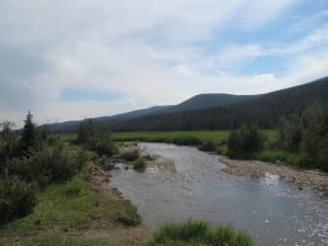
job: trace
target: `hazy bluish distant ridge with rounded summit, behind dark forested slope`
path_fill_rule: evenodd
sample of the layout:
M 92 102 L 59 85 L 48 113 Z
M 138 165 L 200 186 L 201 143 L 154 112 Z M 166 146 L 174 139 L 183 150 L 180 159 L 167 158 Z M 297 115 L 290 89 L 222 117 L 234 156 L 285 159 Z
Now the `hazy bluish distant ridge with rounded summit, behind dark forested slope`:
M 141 118 L 144 116 L 203 109 L 213 106 L 229 105 L 238 102 L 244 102 L 253 97 L 256 96 L 255 95 L 231 95 L 231 94 L 200 94 L 200 95 L 192 96 L 191 98 L 177 105 L 154 106 L 145 109 L 138 109 L 138 110 L 118 114 L 114 116 L 96 117 L 93 119 L 97 122 L 114 126 L 136 118 Z M 80 122 L 81 120 L 72 120 L 66 122 L 49 124 L 46 126 L 51 131 L 67 132 L 67 131 L 77 130 Z

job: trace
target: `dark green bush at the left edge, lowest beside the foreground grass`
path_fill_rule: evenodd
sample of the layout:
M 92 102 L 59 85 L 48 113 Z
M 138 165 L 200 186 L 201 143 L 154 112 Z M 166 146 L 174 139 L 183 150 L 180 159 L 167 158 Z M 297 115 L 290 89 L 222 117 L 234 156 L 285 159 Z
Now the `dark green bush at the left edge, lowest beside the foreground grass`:
M 25 216 L 35 203 L 34 185 L 17 177 L 0 179 L 0 224 Z

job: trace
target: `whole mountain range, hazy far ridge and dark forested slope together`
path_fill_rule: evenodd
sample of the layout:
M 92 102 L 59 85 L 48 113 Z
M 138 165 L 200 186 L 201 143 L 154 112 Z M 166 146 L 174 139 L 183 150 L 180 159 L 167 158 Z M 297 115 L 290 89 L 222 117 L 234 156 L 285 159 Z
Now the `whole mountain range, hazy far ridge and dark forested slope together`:
M 279 118 L 307 105 L 328 102 L 328 77 L 260 95 L 200 94 L 180 104 L 156 106 L 94 118 L 115 131 L 232 129 L 245 122 L 272 128 Z M 81 121 L 48 125 L 54 131 L 73 131 Z

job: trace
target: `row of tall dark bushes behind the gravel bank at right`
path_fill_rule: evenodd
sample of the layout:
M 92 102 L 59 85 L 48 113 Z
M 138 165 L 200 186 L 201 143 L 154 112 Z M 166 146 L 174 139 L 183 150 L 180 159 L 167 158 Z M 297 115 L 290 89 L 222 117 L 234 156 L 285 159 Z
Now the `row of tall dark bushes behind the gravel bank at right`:
M 263 148 L 283 150 L 300 156 L 303 167 L 328 171 L 328 104 L 315 103 L 296 114 L 283 116 L 278 126 L 279 139 L 266 147 L 266 139 L 256 124 L 245 124 L 229 137 L 231 157 L 251 159 Z

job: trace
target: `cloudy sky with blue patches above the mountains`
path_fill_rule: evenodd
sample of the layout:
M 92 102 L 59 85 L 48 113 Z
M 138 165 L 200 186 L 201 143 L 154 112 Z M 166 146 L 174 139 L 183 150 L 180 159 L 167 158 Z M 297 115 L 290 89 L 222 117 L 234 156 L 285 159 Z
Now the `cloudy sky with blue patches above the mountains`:
M 258 94 L 328 75 L 327 0 L 0 0 L 0 122 Z

